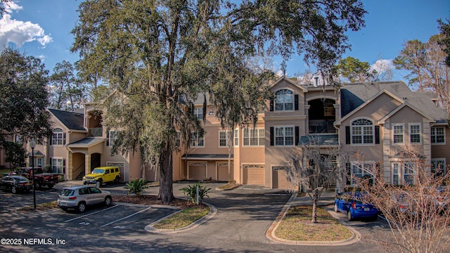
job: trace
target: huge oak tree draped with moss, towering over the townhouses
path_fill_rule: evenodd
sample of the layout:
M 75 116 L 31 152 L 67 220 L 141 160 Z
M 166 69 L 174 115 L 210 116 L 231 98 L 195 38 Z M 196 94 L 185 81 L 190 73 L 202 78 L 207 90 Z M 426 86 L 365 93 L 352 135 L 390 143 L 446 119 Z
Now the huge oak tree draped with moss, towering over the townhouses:
M 105 125 L 123 129 L 118 150 L 139 149 L 158 164 L 159 197 L 172 202 L 176 129 L 187 139 L 201 132 L 192 110 L 199 94 L 210 95 L 224 126 L 251 121 L 269 96 L 252 56 L 298 53 L 330 68 L 365 13 L 355 0 L 91 0 L 79 6 L 72 51 L 83 73 L 125 94 L 106 103 Z

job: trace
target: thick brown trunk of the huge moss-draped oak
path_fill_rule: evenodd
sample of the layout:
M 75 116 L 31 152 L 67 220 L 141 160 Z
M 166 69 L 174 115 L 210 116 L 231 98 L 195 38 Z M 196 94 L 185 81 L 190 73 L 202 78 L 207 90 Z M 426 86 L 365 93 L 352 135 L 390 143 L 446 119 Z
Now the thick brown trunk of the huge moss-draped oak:
M 172 186 L 172 151 L 166 145 L 166 148 L 160 155 L 160 193 L 158 199 L 164 204 L 174 201 L 174 193 Z

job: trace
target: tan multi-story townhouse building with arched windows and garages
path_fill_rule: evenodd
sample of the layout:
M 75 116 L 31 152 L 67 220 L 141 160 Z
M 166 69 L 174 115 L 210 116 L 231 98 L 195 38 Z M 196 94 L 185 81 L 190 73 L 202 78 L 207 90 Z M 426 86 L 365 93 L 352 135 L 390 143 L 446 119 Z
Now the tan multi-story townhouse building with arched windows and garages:
M 304 152 L 311 138 L 323 148 L 339 148 L 336 163 L 346 168 L 340 188 L 352 185 L 352 177 L 364 176 L 364 166 L 383 168 L 387 183 L 413 183 L 411 164 L 402 151 L 415 148 L 432 168 L 450 162 L 448 115 L 431 93 L 414 92 L 404 82 L 368 82 L 320 86 L 299 84 L 281 77 L 271 84 L 274 100 L 267 100 L 255 126 L 234 129 L 229 153 L 227 132 L 221 129 L 215 109 L 203 100 L 195 103 L 195 115 L 203 121 L 205 134 L 193 133 L 190 148 L 173 155 L 173 179 L 233 181 L 267 188 L 292 188 L 285 177 L 287 153 Z M 158 175 L 141 164 L 138 152 L 111 155 L 115 129 L 102 126 L 102 113 L 95 103 L 82 111 L 50 110 L 53 135 L 34 148 L 36 164 L 49 164 L 65 179 L 79 179 L 94 167 L 117 165 L 122 181 Z M 180 140 L 183 141 L 183 140 Z M 181 145 L 184 146 L 184 145 Z M 305 160 L 304 164 L 308 161 Z M 444 171 L 445 173 L 446 171 Z

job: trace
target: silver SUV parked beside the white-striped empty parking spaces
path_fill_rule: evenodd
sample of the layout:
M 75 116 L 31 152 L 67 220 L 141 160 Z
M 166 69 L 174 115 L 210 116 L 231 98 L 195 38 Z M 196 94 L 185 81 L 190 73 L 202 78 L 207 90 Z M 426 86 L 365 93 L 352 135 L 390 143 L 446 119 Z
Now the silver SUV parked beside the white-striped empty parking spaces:
M 65 187 L 58 195 L 58 207 L 63 210 L 76 209 L 84 212 L 86 206 L 104 203 L 111 205 L 112 197 L 108 190 L 100 190 L 95 186 Z

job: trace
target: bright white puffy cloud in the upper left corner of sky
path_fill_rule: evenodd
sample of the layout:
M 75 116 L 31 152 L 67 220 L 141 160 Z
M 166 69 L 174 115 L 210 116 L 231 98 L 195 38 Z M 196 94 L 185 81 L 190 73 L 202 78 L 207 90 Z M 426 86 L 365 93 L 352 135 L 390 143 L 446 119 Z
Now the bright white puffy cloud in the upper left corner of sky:
M 22 46 L 26 42 L 39 41 L 42 46 L 49 44 L 53 39 L 50 35 L 44 33 L 44 29 L 39 24 L 30 21 L 20 21 L 11 19 L 12 11 L 19 11 L 22 6 L 18 6 L 14 2 L 8 3 L 6 12 L 0 20 L 0 47 L 8 46 L 9 42 L 13 42 L 17 46 Z

